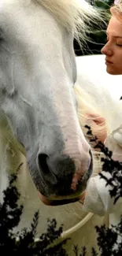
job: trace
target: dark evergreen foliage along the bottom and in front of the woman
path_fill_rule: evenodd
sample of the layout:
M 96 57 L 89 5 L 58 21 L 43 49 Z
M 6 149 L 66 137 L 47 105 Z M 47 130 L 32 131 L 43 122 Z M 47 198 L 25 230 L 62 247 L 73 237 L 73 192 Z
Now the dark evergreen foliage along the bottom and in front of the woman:
M 91 134 L 91 128 L 88 126 L 86 128 L 88 128 L 88 133 Z M 102 143 L 98 143 L 96 137 L 91 139 L 91 142 L 96 142 L 94 147 L 100 149 L 105 154 L 105 158 L 102 158 L 102 169 L 105 172 L 111 173 L 112 178 L 107 180 L 102 174 L 100 176 L 106 180 L 106 186 L 109 184 L 112 186 L 112 190 L 109 192 L 111 197 L 115 198 L 114 202 L 116 203 L 122 196 L 122 163 L 113 161 L 112 152 Z M 17 191 L 17 187 L 14 186 L 16 179 L 17 174 L 10 177 L 9 187 L 3 192 L 3 203 L 0 203 L 0 255 L 5 256 L 9 253 L 13 256 L 21 256 L 22 254 L 28 254 L 29 256 L 70 256 L 65 250 L 67 240 L 70 238 L 60 241 L 60 243 L 54 243 L 60 238 L 61 232 L 63 232 L 63 226 L 57 228 L 55 219 L 47 220 L 48 227 L 46 233 L 43 233 L 39 237 L 39 241 L 35 242 L 39 212 L 35 213 L 29 229 L 24 228 L 20 233 L 13 233 L 13 228 L 19 224 L 23 211 L 23 206 L 17 205 L 20 194 Z M 122 255 L 122 218 L 120 224 L 116 227 L 105 228 L 105 225 L 102 225 L 101 227 L 96 226 L 94 228 L 98 233 L 98 248 L 101 256 Z M 121 242 L 117 242 L 118 236 L 120 236 Z M 115 249 L 116 244 L 117 249 Z M 74 245 L 73 252 L 74 256 L 86 256 L 87 248 L 78 248 L 77 245 Z M 97 255 L 96 250 L 91 248 L 90 256 Z

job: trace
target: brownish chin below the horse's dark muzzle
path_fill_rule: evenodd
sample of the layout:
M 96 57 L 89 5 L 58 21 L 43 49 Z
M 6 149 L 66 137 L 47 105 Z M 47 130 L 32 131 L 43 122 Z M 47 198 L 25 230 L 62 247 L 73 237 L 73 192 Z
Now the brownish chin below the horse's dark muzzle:
M 61 200 L 58 200 L 58 199 L 51 200 L 49 198 L 46 198 L 46 196 L 42 195 L 39 192 L 39 198 L 46 206 L 61 206 L 61 205 L 65 205 L 65 204 L 68 204 L 71 202 L 78 202 L 81 199 L 81 196 L 79 195 L 76 198 L 68 198 L 68 199 L 64 198 Z

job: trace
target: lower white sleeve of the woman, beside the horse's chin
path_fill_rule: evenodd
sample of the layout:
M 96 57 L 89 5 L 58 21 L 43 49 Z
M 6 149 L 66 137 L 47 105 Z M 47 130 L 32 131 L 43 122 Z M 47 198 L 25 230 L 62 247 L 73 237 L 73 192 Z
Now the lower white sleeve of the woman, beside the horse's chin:
M 110 178 L 109 173 L 102 172 L 107 178 Z M 109 190 L 111 187 L 105 186 L 106 181 L 100 176 L 92 177 L 87 184 L 87 195 L 83 203 L 83 210 L 87 212 L 96 213 L 98 215 L 105 215 L 105 213 L 114 213 L 116 208 L 120 205 L 122 209 L 122 198 L 114 204 L 114 198 L 111 198 Z

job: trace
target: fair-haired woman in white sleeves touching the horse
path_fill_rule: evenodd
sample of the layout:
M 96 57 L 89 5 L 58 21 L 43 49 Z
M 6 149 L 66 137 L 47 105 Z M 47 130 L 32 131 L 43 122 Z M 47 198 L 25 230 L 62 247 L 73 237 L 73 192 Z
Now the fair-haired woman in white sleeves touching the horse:
M 119 75 L 122 74 L 122 1 L 111 7 L 110 12 L 112 17 L 109 20 L 106 32 L 107 43 L 102 48 L 102 54 L 105 54 L 106 71 L 109 74 Z M 91 115 L 91 126 L 94 122 Z M 101 125 L 101 122 L 98 125 Z M 97 133 L 94 132 L 94 134 L 98 136 Z M 109 150 L 113 150 L 113 160 L 122 161 L 122 130 L 118 129 L 113 136 L 109 136 L 107 139 L 105 137 L 106 133 L 103 138 L 98 139 L 104 141 Z M 102 173 L 107 178 L 111 178 L 109 173 Z M 87 191 L 82 198 L 83 210 L 98 215 L 109 213 L 109 225 L 116 225 L 120 222 L 122 215 L 122 198 L 119 198 L 114 204 L 114 198 L 111 198 L 109 194 L 111 187 L 105 185 L 106 181 L 100 176 L 91 177 L 87 184 Z

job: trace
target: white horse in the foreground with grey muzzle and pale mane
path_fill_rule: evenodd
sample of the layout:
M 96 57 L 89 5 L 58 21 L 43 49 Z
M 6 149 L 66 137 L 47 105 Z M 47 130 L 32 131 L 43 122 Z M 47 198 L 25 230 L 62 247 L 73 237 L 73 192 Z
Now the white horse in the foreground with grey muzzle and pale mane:
M 92 156 L 72 89 L 76 83 L 73 36 L 78 37 L 79 26 L 84 35 L 84 20 L 98 16 L 79 0 L 0 3 L 1 199 L 9 175 L 23 161 L 17 188 L 24 211 L 17 230 L 29 227 L 35 210 L 40 210 L 37 236 L 46 231 L 47 218 L 55 217 L 58 225 L 64 224 L 62 238 L 73 232 L 69 255 L 75 243 L 80 247 L 88 241 L 91 250 L 96 243 L 94 224 L 104 221 L 83 213 L 74 202 L 91 176 Z M 38 193 L 50 204 L 51 200 L 55 205 L 70 204 L 45 206 Z

